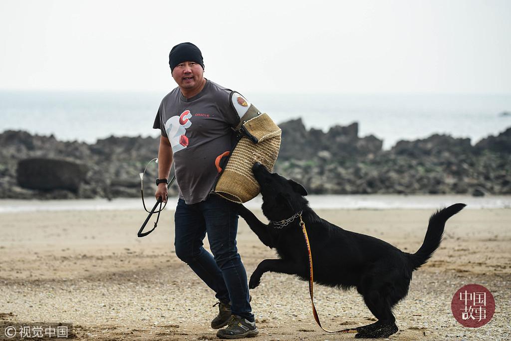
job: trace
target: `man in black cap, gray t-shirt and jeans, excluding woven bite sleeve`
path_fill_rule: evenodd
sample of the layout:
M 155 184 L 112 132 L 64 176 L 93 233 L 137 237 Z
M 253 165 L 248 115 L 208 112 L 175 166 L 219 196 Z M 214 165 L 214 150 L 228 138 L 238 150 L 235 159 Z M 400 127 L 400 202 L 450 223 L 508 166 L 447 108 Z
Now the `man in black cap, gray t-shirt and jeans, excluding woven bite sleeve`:
M 236 247 L 238 214 L 233 203 L 211 194 L 218 175 L 215 161 L 231 150 L 233 127 L 249 104 L 238 93 L 204 78 L 202 53 L 190 42 L 172 48 L 169 65 L 178 86 L 161 101 L 154 120 L 153 128 L 161 130 L 155 196 L 167 201 L 174 161 L 179 187 L 176 255 L 215 291 L 219 313 L 211 326 L 227 326 L 217 336 L 255 336 L 259 331 Z M 206 233 L 213 256 L 202 247 Z

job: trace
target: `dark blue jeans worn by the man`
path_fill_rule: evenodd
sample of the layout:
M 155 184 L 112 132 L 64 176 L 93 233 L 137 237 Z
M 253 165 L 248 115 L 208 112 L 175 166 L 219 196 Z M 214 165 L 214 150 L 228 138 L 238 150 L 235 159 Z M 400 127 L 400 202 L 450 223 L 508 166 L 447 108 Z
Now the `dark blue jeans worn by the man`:
M 238 213 L 233 203 L 215 194 L 190 205 L 179 199 L 174 220 L 176 256 L 216 292 L 218 300 L 231 303 L 234 315 L 253 321 L 247 274 L 236 247 Z M 206 233 L 213 256 L 202 246 Z

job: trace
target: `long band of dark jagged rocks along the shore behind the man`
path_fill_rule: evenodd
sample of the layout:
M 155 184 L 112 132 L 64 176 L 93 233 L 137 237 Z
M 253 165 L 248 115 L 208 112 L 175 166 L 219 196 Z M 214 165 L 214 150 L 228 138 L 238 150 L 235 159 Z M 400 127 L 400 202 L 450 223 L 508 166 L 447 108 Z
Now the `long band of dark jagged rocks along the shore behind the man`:
M 483 139 L 475 147 L 469 139 L 435 134 L 427 139 L 400 141 L 391 150 L 382 150 L 382 141 L 376 137 L 358 137 L 356 123 L 335 126 L 328 132 L 307 130 L 299 119 L 280 127 L 283 140 L 275 171 L 303 184 L 311 194 L 511 194 L 511 129 Z M 140 197 L 138 173 L 156 157 L 158 141 L 109 137 L 88 145 L 25 131 L 5 131 L 0 133 L 0 197 Z M 52 184 L 41 179 L 40 169 L 32 170 L 36 175 L 22 175 L 18 183 L 17 171 L 23 169 L 18 162 L 25 159 L 64 160 L 87 167 L 84 176 L 72 176 L 80 179 L 77 183 Z M 58 166 L 50 175 L 55 175 L 55 168 L 79 173 L 72 167 Z M 57 180 L 62 182 L 66 176 L 58 175 Z M 154 193 L 156 176 L 156 166 L 150 165 L 144 181 L 146 197 Z M 38 183 L 29 188 L 37 189 L 21 187 L 33 179 Z M 177 193 L 174 184 L 169 194 Z

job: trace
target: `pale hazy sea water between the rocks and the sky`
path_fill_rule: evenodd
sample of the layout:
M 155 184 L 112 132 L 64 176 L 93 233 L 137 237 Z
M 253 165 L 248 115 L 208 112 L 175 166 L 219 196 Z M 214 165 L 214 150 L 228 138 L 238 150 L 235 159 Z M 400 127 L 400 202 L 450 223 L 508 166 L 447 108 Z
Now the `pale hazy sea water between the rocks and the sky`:
M 0 131 L 23 129 L 59 140 L 94 143 L 115 136 L 157 136 L 152 129 L 161 93 L 0 91 Z M 361 137 L 373 134 L 389 149 L 399 140 L 433 133 L 472 143 L 511 126 L 511 94 L 303 95 L 244 93 L 277 123 L 301 118 L 307 128 L 359 122 Z

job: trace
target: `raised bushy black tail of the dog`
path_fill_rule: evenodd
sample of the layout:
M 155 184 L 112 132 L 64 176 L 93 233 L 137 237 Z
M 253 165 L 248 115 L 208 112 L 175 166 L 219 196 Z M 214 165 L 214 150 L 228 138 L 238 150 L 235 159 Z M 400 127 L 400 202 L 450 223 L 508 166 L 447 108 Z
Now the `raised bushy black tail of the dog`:
M 429 218 L 428 231 L 426 237 L 424 237 L 424 243 L 422 243 L 419 250 L 410 255 L 410 259 L 413 265 L 413 270 L 418 269 L 433 256 L 442 241 L 442 235 L 444 234 L 444 226 L 447 219 L 461 211 L 465 206 L 464 203 L 455 203 L 443 210 L 436 211 Z

